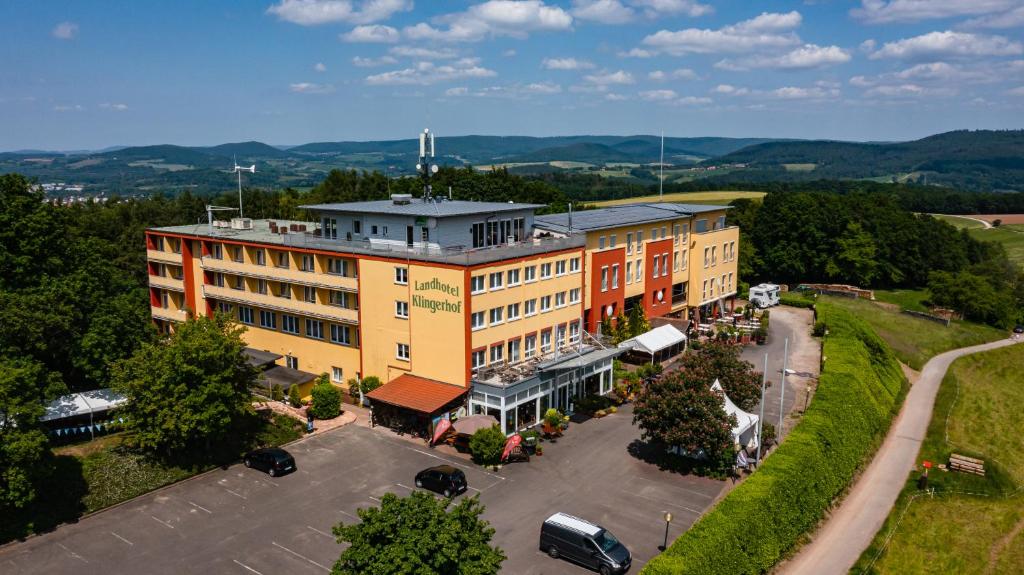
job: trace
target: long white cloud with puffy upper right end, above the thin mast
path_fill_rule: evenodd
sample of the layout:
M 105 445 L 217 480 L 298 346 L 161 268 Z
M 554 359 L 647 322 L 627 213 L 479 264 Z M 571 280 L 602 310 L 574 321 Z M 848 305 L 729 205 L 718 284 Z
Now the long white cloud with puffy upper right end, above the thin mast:
M 719 30 L 689 28 L 677 32 L 660 30 L 643 39 L 643 44 L 675 55 L 687 53 L 741 53 L 784 48 L 800 43 L 793 32 L 800 27 L 800 12 L 762 12 L 761 15 Z

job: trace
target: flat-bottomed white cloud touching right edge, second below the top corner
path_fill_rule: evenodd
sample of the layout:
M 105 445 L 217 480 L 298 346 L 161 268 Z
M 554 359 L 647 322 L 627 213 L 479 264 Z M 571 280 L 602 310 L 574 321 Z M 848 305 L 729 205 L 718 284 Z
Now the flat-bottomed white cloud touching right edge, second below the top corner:
M 1004 36 L 966 32 L 929 32 L 913 38 L 886 42 L 871 59 L 934 59 L 938 57 L 1008 56 L 1024 53 L 1024 45 Z

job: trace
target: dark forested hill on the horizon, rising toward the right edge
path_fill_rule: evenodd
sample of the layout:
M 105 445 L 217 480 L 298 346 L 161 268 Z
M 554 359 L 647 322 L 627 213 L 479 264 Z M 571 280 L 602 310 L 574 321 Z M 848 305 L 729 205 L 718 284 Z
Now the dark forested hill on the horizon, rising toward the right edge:
M 961 130 L 899 143 L 776 141 L 708 161 L 740 163 L 749 181 L 871 178 L 976 190 L 1024 190 L 1024 130 Z

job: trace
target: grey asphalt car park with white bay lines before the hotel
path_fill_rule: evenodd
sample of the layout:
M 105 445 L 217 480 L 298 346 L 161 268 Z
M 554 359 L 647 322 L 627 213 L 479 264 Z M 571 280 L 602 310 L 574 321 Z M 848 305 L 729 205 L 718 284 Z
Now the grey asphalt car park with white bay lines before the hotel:
M 347 426 L 293 444 L 299 471 L 282 478 L 233 466 L 0 550 L 0 572 L 323 573 L 341 552 L 331 527 L 387 492 L 408 493 L 417 471 L 466 471 L 509 560 L 504 573 L 585 573 L 538 549 L 541 522 L 562 511 L 602 524 L 633 551 L 634 572 L 724 483 L 660 472 L 628 452 L 639 435 L 629 410 L 573 425 L 545 455 L 497 474 L 377 430 Z

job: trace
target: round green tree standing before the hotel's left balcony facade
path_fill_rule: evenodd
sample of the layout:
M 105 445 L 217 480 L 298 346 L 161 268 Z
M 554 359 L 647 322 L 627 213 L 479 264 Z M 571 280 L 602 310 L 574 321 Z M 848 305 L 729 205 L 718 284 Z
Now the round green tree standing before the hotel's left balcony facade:
M 178 324 L 166 342 L 144 344 L 114 370 L 127 441 L 166 456 L 211 455 L 213 442 L 238 437 L 252 414 L 256 368 L 242 353 L 244 327 L 226 316 Z

